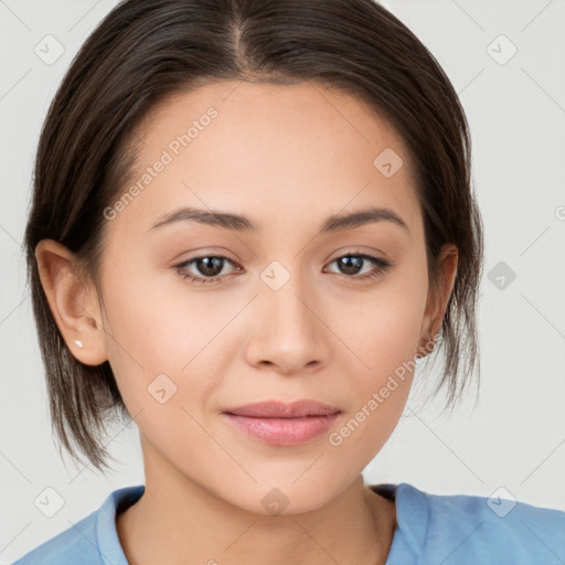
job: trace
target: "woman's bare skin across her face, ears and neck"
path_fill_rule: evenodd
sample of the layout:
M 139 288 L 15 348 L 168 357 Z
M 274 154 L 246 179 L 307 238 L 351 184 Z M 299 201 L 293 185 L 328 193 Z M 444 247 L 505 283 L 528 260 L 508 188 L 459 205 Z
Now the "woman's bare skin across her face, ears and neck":
M 445 247 L 444 278 L 431 292 L 402 138 L 358 99 L 320 85 L 221 82 L 169 97 L 139 128 L 129 182 L 210 106 L 218 116 L 107 221 L 102 297 L 73 276 L 64 246 L 44 239 L 36 248 L 68 348 L 85 364 L 109 361 L 140 430 L 146 492 L 117 516 L 120 543 L 132 564 L 383 564 L 395 505 L 361 473 L 398 423 L 414 375 L 341 445 L 328 436 L 439 331 L 457 249 Z M 404 161 L 391 178 L 373 166 L 385 148 Z M 149 230 L 181 205 L 245 214 L 258 228 L 178 222 Z M 381 221 L 318 235 L 328 216 L 370 205 L 393 210 L 409 231 Z M 335 262 L 354 253 L 392 267 L 362 281 L 372 263 L 358 275 Z M 215 284 L 174 269 L 218 254 L 234 263 L 223 264 Z M 260 277 L 273 260 L 290 276 L 278 290 Z M 196 263 L 184 273 L 206 274 Z M 177 393 L 160 404 L 148 386 L 163 373 Z M 342 411 L 300 446 L 246 437 L 221 415 L 299 398 Z M 278 515 L 262 504 L 273 488 L 288 500 Z

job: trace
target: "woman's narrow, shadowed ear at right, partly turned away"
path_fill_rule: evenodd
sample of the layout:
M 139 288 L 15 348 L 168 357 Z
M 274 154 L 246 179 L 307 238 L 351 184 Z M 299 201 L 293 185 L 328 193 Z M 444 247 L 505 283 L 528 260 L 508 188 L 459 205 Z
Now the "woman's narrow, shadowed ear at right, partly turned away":
M 436 287 L 429 289 L 422 322 L 419 351 L 423 353 L 416 355 L 417 358 L 426 356 L 434 349 L 431 342 L 441 329 L 447 303 L 457 278 L 458 256 L 457 247 L 454 244 L 446 244 L 441 247 L 437 260 Z

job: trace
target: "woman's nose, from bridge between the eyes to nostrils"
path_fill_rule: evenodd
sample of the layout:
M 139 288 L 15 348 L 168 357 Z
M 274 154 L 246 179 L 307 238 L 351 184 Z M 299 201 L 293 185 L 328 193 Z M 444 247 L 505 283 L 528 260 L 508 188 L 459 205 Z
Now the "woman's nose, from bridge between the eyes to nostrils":
M 269 271 L 280 277 L 280 273 Z M 331 329 L 324 323 L 323 300 L 305 274 L 288 273 L 277 288 L 268 276 L 259 281 L 253 305 L 247 362 L 280 374 L 313 373 L 329 363 Z

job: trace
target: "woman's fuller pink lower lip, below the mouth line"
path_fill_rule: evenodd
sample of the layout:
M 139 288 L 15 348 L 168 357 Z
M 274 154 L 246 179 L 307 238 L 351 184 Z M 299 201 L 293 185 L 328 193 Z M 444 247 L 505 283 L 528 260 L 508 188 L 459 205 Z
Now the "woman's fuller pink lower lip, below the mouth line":
M 339 413 L 300 418 L 256 418 L 223 414 L 236 428 L 248 436 L 276 446 L 297 446 L 323 434 Z

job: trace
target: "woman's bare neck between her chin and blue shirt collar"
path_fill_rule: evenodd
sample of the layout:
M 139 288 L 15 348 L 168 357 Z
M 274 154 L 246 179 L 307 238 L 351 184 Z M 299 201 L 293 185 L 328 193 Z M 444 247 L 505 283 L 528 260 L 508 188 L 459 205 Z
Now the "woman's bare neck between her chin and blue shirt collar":
M 146 462 L 146 490 L 118 514 L 118 537 L 131 565 L 384 565 L 396 526 L 395 505 L 360 475 L 326 505 L 300 514 L 248 512 L 184 476 L 156 473 Z

